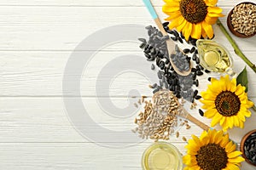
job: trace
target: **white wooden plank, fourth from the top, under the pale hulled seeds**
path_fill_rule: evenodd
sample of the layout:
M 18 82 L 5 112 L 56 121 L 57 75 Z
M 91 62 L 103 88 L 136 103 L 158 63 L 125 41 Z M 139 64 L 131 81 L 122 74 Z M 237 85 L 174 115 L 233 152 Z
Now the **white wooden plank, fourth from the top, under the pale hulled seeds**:
M 116 132 L 131 132 L 130 130 L 136 127 L 133 123 L 134 118 L 139 111 L 143 111 L 142 107 L 136 108 L 133 105 L 137 100 L 133 98 L 82 98 L 82 106 L 85 110 L 79 110 L 79 105 L 69 106 L 68 103 L 64 105 L 62 98 L 0 98 L 0 143 L 111 143 L 112 139 L 101 137 L 107 135 L 111 138 L 117 134 Z M 255 102 L 256 98 L 253 98 L 253 101 Z M 108 102 L 111 102 L 111 105 L 106 106 Z M 185 105 L 185 108 L 192 116 L 210 124 L 211 120 L 199 116 L 198 108 L 189 110 L 189 103 Z M 82 111 L 84 116 L 90 116 L 91 119 L 81 120 L 84 124 L 80 126 L 79 120 L 74 117 L 74 114 L 79 111 Z M 239 143 L 241 137 L 254 128 L 253 122 L 255 121 L 256 114 L 253 114 L 247 119 L 244 129 L 230 130 L 230 138 Z M 180 138 L 172 137 L 171 141 L 179 143 L 182 142 L 182 136 L 189 139 L 191 134 L 201 134 L 200 127 L 196 127 L 192 122 L 189 125 L 191 126 L 189 130 L 185 127 L 178 128 Z M 96 130 L 99 126 L 102 127 L 101 130 Z M 79 130 L 81 127 L 86 129 L 86 133 L 81 133 Z M 220 129 L 220 127 L 216 128 Z M 96 136 L 92 137 L 91 134 Z M 126 138 L 127 135 L 137 136 L 132 132 L 119 135 L 119 139 L 114 140 L 117 144 L 120 144 L 121 138 Z M 127 141 L 129 142 L 132 143 L 132 141 Z

